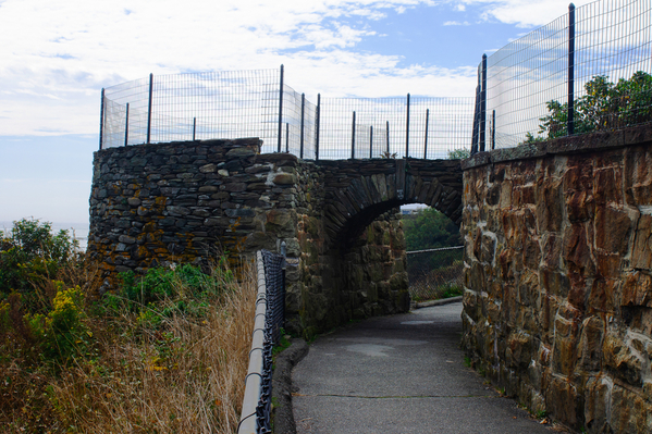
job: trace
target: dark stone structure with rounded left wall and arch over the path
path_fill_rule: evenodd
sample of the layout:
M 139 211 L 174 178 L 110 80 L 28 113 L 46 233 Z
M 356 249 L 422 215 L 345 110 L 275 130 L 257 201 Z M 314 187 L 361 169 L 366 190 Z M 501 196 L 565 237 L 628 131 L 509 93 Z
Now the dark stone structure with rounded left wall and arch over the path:
M 169 262 L 233 261 L 286 243 L 287 327 L 308 335 L 350 319 L 407 311 L 397 207 L 462 219 L 458 161 L 309 162 L 260 154 L 257 138 L 97 151 L 88 251 L 115 273 Z

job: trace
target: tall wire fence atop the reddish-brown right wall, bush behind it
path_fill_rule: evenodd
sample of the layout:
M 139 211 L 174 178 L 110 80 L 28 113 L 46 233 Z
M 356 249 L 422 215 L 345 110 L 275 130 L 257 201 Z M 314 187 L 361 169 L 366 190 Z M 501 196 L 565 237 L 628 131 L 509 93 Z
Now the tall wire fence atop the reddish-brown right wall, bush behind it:
M 651 1 L 570 4 L 483 57 L 471 152 L 651 122 Z

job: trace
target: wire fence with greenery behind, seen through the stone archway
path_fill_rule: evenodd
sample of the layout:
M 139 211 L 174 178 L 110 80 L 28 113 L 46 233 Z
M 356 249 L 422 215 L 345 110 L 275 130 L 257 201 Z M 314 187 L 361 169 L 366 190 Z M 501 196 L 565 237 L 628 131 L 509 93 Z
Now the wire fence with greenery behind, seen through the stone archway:
M 462 295 L 464 246 L 407 252 L 407 278 L 413 301 Z

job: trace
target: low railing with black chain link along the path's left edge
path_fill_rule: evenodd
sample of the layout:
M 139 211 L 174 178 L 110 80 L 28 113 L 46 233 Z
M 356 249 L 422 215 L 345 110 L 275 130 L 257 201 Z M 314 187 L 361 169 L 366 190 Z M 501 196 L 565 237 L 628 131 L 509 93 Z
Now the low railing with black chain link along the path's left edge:
M 272 347 L 285 318 L 285 244 L 281 255 L 256 255 L 258 296 L 238 434 L 271 433 Z

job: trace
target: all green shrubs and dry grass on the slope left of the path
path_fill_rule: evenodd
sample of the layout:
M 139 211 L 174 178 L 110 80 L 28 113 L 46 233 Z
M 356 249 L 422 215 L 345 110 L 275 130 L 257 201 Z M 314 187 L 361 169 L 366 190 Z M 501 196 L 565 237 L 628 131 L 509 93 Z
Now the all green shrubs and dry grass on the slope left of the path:
M 254 278 L 190 265 L 122 275 L 97 297 L 65 232 L 14 222 L 0 241 L 0 432 L 231 433 Z

